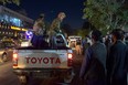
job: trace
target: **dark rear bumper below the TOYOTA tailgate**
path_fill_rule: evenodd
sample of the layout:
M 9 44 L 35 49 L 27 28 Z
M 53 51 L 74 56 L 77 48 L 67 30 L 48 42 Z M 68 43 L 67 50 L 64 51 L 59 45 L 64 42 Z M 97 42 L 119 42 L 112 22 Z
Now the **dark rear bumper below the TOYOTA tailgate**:
M 57 77 L 57 76 L 65 76 L 71 75 L 73 70 L 72 68 L 17 68 L 13 70 L 17 75 L 25 75 L 32 77 Z

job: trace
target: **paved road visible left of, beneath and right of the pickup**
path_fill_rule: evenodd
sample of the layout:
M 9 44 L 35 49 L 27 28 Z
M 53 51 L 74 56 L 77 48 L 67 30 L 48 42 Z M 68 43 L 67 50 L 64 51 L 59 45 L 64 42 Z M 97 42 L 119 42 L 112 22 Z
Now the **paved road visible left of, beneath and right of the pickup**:
M 74 54 L 75 77 L 73 79 L 73 83 L 70 85 L 78 85 L 78 74 L 82 59 L 83 59 L 82 55 Z M 11 61 L 0 64 L 0 85 L 20 85 L 18 76 L 13 74 Z M 57 78 L 49 78 L 43 81 L 30 78 L 29 85 L 67 85 L 67 84 L 64 84 L 61 79 Z

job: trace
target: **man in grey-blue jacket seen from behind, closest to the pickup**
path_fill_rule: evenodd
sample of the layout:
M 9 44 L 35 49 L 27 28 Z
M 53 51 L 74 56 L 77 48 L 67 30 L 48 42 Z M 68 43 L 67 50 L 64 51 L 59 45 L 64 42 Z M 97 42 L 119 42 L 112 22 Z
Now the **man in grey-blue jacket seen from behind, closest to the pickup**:
M 92 32 L 93 45 L 86 50 L 79 73 L 79 78 L 86 82 L 85 85 L 105 85 L 107 51 L 100 38 L 100 31 Z

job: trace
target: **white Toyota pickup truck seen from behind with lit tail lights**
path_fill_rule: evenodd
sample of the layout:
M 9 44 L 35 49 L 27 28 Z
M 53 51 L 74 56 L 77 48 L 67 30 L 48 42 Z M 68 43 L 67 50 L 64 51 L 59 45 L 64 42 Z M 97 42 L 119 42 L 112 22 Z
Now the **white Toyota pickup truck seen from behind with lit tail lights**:
M 72 82 L 73 51 L 66 46 L 66 40 L 62 34 L 56 36 L 56 45 L 55 49 L 28 46 L 13 51 L 13 72 L 22 84 L 26 84 L 29 77 L 60 77 L 65 83 Z

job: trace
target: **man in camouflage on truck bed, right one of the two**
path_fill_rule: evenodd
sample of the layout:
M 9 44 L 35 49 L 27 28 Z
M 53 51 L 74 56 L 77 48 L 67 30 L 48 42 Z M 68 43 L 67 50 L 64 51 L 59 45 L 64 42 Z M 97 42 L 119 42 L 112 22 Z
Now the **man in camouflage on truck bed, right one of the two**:
M 51 28 L 50 28 L 50 41 L 51 41 L 51 45 L 53 47 L 55 47 L 55 35 L 57 33 L 61 32 L 61 23 L 63 21 L 63 19 L 65 18 L 65 13 L 64 12 L 60 12 L 57 14 L 57 18 L 53 20 L 52 24 L 51 24 Z

